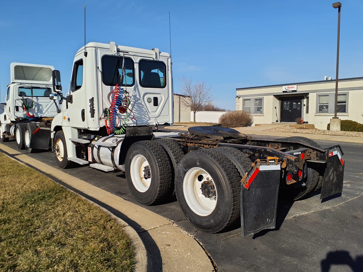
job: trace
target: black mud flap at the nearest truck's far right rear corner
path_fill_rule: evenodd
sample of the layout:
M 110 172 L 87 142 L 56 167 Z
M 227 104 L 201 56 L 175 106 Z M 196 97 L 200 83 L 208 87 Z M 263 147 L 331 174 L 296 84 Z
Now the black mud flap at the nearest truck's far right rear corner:
M 343 191 L 344 159 L 340 145 L 334 145 L 325 149 L 326 169 L 321 189 L 320 199 Z

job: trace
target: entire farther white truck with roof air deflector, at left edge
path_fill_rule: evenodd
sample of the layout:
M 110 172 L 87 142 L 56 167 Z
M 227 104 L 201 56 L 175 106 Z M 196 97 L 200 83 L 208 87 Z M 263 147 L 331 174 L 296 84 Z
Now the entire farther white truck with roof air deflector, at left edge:
M 54 67 L 13 62 L 10 69 L 11 83 L 0 111 L 0 140 L 15 138 L 17 147 L 29 153 L 48 150 L 50 123 L 60 103 L 49 100 L 49 95 L 54 93 Z

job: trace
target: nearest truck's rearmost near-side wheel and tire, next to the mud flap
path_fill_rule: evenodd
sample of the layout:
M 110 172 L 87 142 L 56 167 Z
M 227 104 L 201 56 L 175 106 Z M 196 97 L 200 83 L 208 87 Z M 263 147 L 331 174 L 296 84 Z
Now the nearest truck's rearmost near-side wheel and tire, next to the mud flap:
M 175 176 L 176 198 L 195 227 L 216 233 L 240 218 L 240 174 L 222 152 L 211 148 L 186 154 Z

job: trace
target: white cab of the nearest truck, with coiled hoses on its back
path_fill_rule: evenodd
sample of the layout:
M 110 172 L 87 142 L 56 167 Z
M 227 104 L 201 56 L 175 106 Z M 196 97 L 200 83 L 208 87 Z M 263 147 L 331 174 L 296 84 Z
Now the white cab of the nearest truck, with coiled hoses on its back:
M 168 53 L 90 42 L 74 57 L 68 94 L 52 122 L 51 139 L 58 131 L 67 142 L 81 134 L 123 135 L 127 127 L 172 124 L 172 86 Z M 66 149 L 68 157 L 80 157 L 76 144 L 67 143 Z

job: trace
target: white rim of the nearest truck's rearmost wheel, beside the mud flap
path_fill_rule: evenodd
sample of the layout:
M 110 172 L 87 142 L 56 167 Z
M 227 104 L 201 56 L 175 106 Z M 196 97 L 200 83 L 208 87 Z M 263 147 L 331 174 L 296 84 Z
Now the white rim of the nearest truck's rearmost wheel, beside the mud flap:
M 205 197 L 202 194 L 200 188 L 205 181 L 211 182 L 214 185 L 215 194 L 212 197 Z M 183 180 L 183 193 L 189 208 L 197 215 L 208 216 L 216 209 L 216 186 L 211 175 L 202 168 L 195 167 L 188 170 Z

